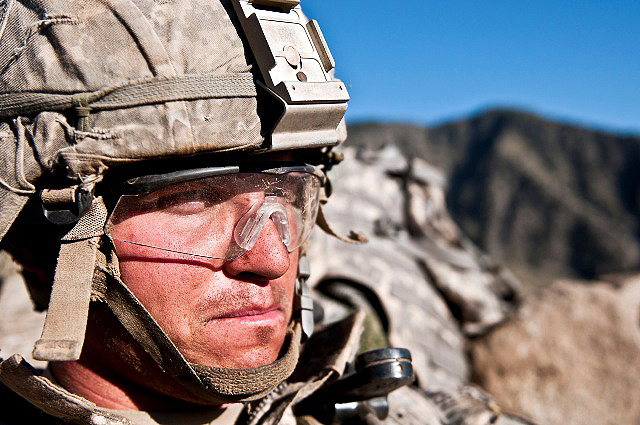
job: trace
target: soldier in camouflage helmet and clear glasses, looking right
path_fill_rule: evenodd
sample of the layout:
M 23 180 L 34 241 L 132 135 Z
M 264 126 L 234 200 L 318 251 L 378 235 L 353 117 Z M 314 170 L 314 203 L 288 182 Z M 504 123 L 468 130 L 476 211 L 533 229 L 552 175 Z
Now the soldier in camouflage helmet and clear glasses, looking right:
M 305 241 L 334 233 L 349 97 L 298 3 L 0 3 L 0 236 L 49 362 L 0 364 L 2 423 L 387 417 L 407 350 L 354 365 L 362 313 L 311 335 Z M 388 423 L 444 417 L 393 394 Z

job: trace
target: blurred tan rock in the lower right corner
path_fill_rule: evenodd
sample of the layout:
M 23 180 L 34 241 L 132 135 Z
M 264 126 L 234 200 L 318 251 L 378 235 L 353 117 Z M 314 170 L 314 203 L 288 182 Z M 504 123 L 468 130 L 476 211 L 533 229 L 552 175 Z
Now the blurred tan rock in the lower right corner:
M 544 424 L 640 423 L 640 276 L 557 281 L 471 345 L 476 381 Z

